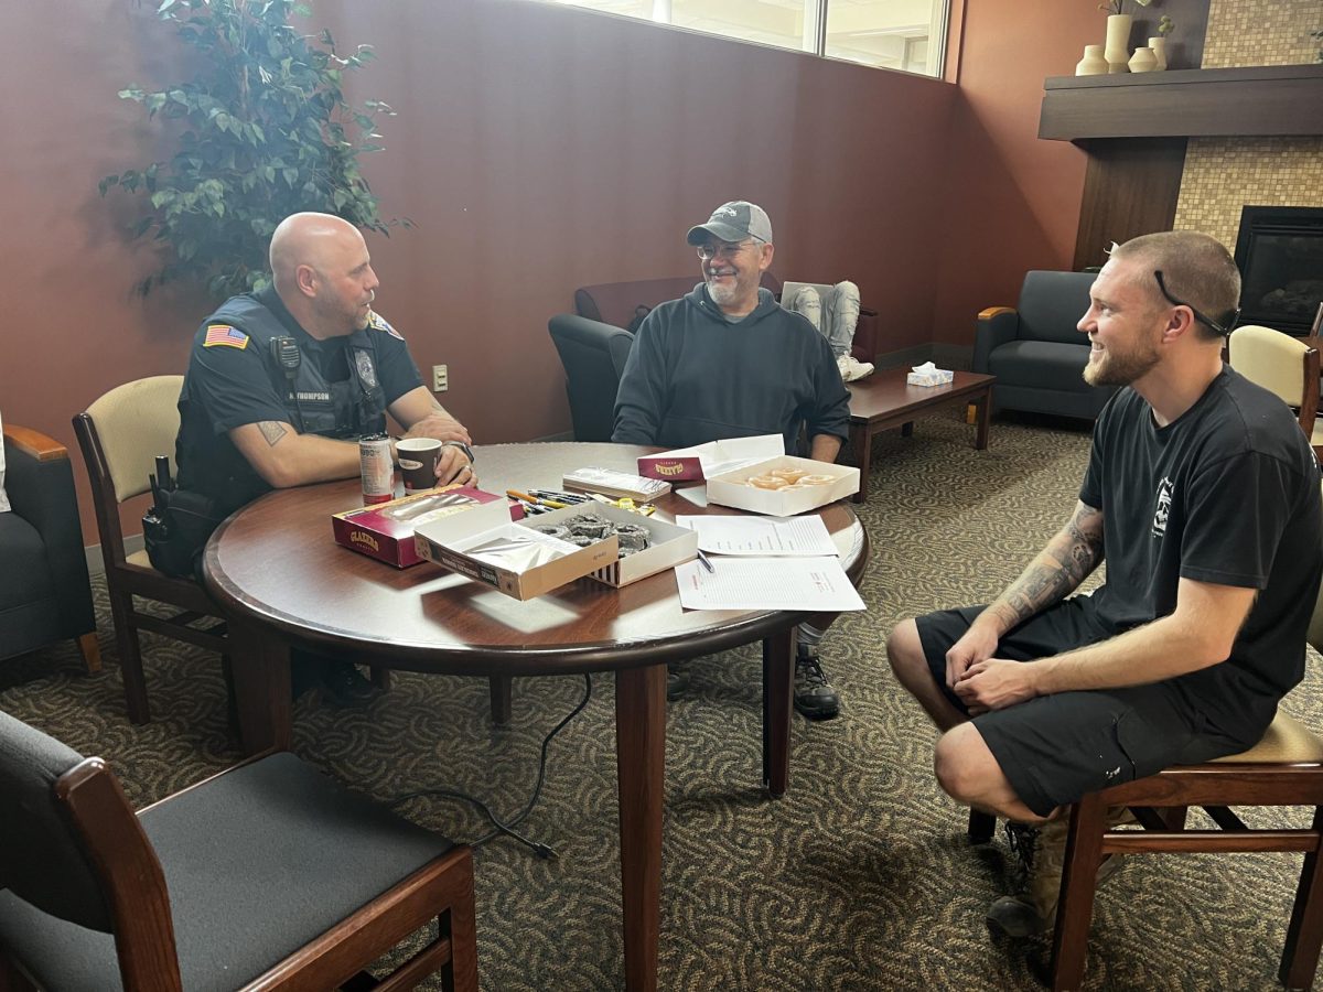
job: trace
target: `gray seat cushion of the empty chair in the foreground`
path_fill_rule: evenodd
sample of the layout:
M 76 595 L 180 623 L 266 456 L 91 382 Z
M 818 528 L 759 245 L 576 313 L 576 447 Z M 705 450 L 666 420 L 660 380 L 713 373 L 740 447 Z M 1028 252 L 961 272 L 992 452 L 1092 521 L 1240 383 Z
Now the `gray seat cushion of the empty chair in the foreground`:
M 282 753 L 142 816 L 185 989 L 261 975 L 452 844 Z M 114 942 L 0 894 L 0 943 L 57 989 L 120 988 Z

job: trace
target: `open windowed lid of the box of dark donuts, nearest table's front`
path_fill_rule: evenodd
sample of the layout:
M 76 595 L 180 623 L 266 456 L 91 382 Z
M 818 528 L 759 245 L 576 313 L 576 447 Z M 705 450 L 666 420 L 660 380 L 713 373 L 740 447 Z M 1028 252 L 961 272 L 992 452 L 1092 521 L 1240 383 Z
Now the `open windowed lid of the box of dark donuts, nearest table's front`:
M 414 548 L 419 558 L 486 582 L 515 599 L 532 599 L 619 557 L 615 534 L 581 548 L 538 529 L 565 512 L 512 524 L 503 507 L 476 507 L 423 524 L 414 532 Z

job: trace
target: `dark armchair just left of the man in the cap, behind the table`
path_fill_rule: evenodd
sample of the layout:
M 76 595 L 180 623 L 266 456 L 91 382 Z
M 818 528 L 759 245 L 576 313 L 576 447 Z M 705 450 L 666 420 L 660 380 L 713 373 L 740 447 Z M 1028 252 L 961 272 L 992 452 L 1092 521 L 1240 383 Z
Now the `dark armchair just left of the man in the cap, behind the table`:
M 572 313 L 557 313 L 548 323 L 548 331 L 565 366 L 565 395 L 570 401 L 574 440 L 610 440 L 615 392 L 634 335 Z

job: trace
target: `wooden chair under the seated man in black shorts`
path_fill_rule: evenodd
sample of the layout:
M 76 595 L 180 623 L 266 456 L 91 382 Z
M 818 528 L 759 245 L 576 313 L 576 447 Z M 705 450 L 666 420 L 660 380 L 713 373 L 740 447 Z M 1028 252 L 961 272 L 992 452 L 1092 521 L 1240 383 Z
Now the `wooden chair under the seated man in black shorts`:
M 1274 332 L 1275 333 L 1275 332 Z M 1308 643 L 1323 649 L 1323 590 Z M 1143 829 L 1109 829 L 1109 807 L 1130 807 Z M 1215 829 L 1185 829 L 1189 807 L 1203 807 Z M 1230 807 L 1312 807 L 1307 828 L 1250 828 Z M 1323 946 L 1323 739 L 1278 710 L 1263 739 L 1242 754 L 1179 765 L 1148 778 L 1086 795 L 1070 807 L 1061 899 L 1052 935 L 1052 988 L 1077 989 L 1089 952 L 1098 866 L 1107 854 L 1299 852 L 1304 854 L 1286 930 L 1278 979 L 1310 988 Z M 970 812 L 970 841 L 987 843 L 996 820 Z M 1172 894 L 1172 898 L 1181 898 Z

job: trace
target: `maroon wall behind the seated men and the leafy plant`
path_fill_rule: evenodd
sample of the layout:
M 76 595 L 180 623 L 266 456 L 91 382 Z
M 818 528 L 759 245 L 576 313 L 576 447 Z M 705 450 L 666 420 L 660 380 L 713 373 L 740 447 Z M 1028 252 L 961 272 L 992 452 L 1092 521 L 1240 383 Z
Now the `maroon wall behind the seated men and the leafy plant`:
M 974 311 L 1073 243 L 1082 157 L 1035 127 L 1043 77 L 1102 22 L 1031 7 L 968 0 L 958 90 L 532 0 L 321 0 L 316 26 L 380 56 L 352 93 L 400 112 L 366 172 L 384 213 L 419 226 L 370 239 L 381 311 L 421 366 L 450 366 L 442 399 L 479 442 L 565 431 L 546 319 L 577 286 L 697 278 L 684 230 L 747 197 L 775 225 L 774 271 L 859 282 L 884 312 L 881 351 L 967 343 Z M 138 202 L 97 196 L 161 145 L 115 95 L 181 78 L 153 8 L 0 13 L 21 40 L 0 62 L 0 410 L 70 444 L 69 418 L 106 389 L 183 372 L 208 306 L 134 296 L 155 267 L 120 233 Z M 85 526 L 94 541 L 90 512 Z

